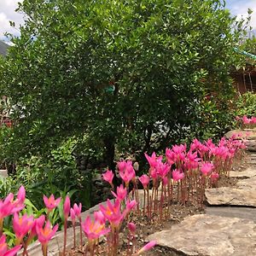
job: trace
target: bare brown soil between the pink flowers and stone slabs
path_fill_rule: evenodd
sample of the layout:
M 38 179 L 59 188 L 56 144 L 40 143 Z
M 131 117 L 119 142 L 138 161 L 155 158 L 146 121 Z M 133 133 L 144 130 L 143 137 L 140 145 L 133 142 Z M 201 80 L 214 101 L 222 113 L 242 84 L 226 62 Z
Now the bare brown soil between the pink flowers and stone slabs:
M 236 160 L 233 164 L 232 171 L 241 172 L 245 170 L 248 166 L 247 164 L 247 156 L 242 160 Z M 236 187 L 236 183 L 239 178 L 236 177 L 220 177 L 218 180 L 218 187 Z M 135 250 L 136 252 L 139 248 L 143 247 L 146 243 L 146 237 L 160 230 L 167 230 L 172 227 L 174 224 L 180 223 L 184 218 L 194 215 L 194 214 L 202 214 L 205 213 L 204 209 L 199 205 L 186 205 L 182 206 L 179 204 L 174 204 L 169 208 L 169 214 L 160 221 L 159 214 L 153 216 L 154 222 L 148 220 L 146 217 L 137 217 L 137 215 L 130 216 L 129 222 L 134 222 L 137 224 L 137 231 L 135 237 Z M 125 227 L 125 224 L 124 224 Z M 119 252 L 118 255 L 123 256 L 127 255 L 127 229 L 121 229 L 119 233 Z M 130 242 L 131 244 L 131 242 Z M 70 256 L 81 256 L 84 255 L 83 252 L 78 250 L 71 250 L 69 252 Z M 89 254 L 88 254 L 89 255 Z M 108 245 L 106 238 L 102 238 L 99 242 L 99 246 L 96 248 L 96 252 L 94 255 L 105 256 L 108 255 Z M 167 247 L 154 247 L 151 251 L 145 253 L 147 256 L 180 256 L 182 253 L 175 252 Z

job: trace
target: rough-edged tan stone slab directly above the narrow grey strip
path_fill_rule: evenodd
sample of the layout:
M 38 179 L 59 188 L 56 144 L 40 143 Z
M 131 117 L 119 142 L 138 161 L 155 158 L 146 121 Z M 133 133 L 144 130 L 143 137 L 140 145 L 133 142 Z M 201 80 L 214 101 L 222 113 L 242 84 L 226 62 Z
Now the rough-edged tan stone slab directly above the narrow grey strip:
M 256 207 L 256 177 L 243 179 L 236 185 L 236 188 L 206 189 L 205 195 L 208 204 Z

